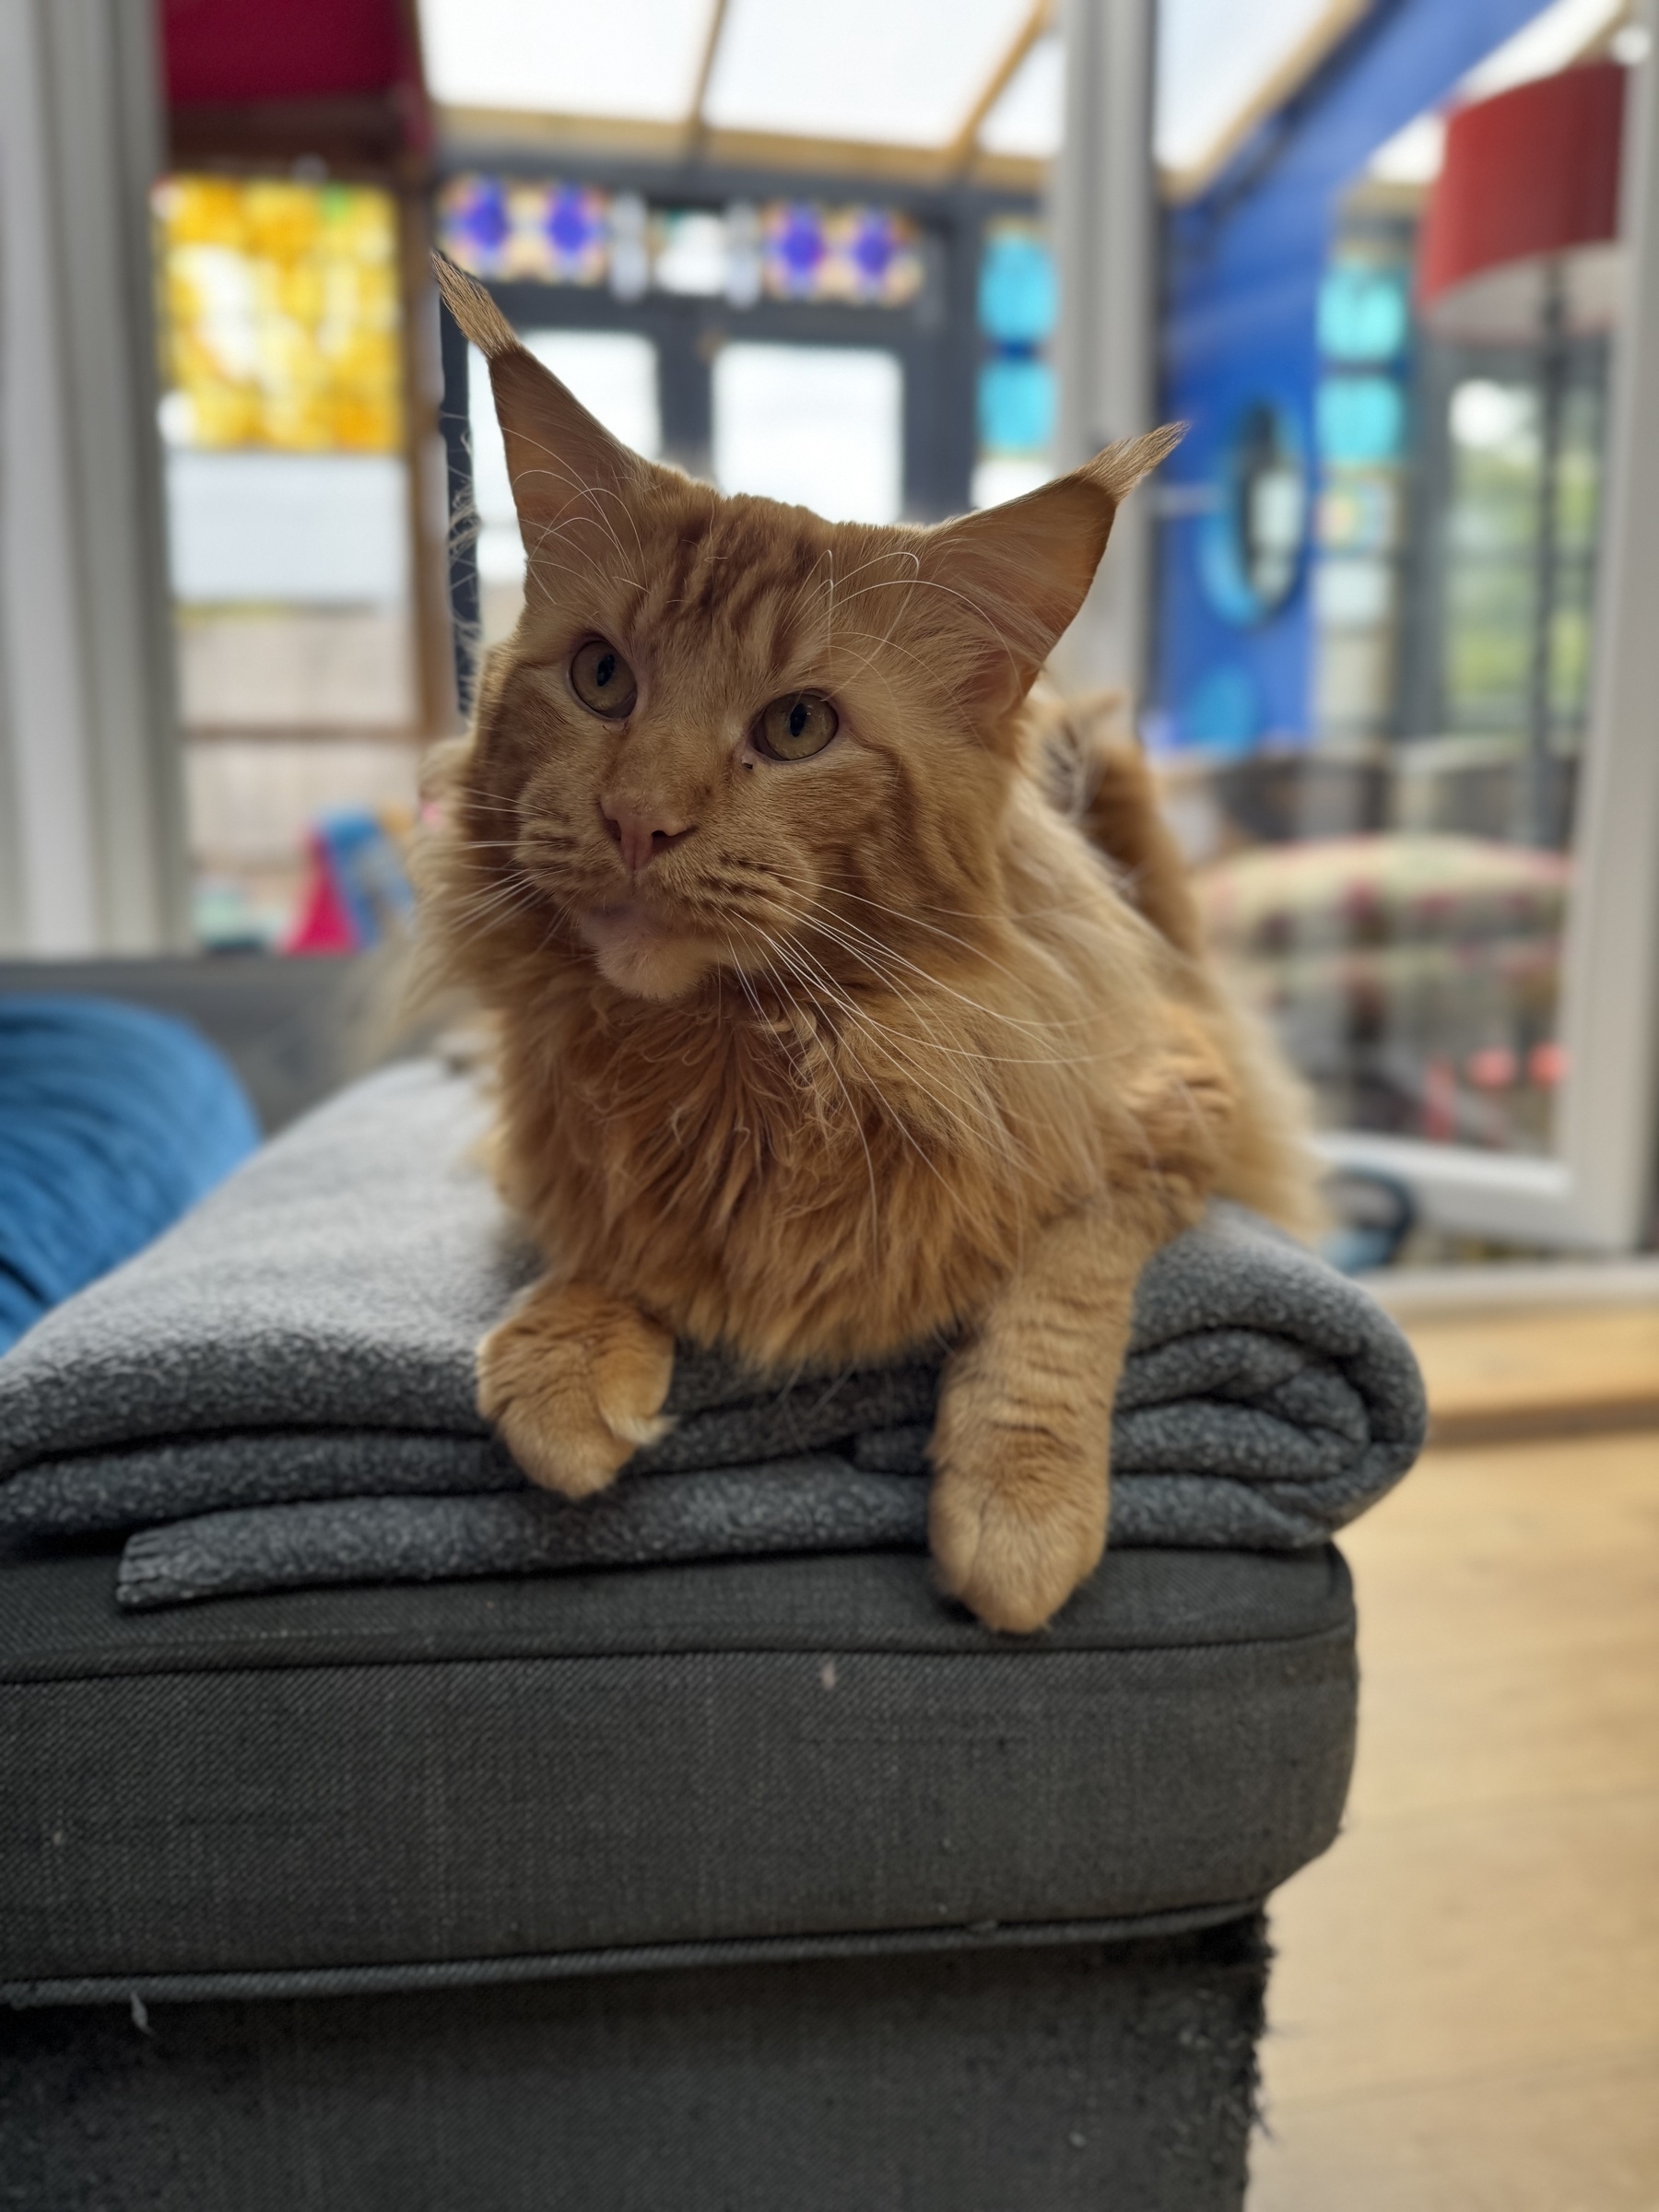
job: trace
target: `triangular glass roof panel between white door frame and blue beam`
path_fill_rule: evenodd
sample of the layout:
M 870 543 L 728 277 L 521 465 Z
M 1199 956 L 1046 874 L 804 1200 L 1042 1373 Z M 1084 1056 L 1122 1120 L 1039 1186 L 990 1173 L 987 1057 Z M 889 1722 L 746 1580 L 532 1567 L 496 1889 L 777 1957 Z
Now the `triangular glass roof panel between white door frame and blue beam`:
M 1352 13 L 1340 0 L 1159 0 L 1159 166 L 1199 168 L 1298 49 Z

